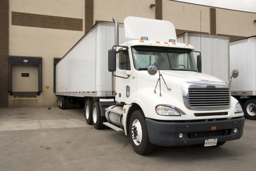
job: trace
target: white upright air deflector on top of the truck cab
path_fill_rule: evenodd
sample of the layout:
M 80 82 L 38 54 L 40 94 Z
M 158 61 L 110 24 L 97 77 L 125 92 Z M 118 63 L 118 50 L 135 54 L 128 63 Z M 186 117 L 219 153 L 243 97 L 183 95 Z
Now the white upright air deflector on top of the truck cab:
M 139 17 L 126 17 L 124 19 L 125 37 L 141 39 L 148 37 L 148 40 L 169 42 L 169 39 L 177 42 L 174 25 L 170 21 L 146 19 Z

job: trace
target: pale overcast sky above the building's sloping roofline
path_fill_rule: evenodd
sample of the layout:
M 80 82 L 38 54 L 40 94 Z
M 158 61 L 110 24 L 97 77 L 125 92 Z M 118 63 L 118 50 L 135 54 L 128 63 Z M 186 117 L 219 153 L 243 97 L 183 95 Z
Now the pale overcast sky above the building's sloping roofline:
M 256 0 L 177 0 L 193 4 L 226 8 L 231 10 L 256 12 Z

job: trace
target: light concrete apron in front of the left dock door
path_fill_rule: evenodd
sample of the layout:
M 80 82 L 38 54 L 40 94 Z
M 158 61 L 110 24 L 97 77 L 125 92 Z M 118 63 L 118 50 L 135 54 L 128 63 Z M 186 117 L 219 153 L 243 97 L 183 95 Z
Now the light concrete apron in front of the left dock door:
M 69 110 L 59 107 L 0 108 L 0 131 L 87 127 L 84 110 L 73 106 Z M 72 114 L 72 110 L 76 111 Z M 78 113 L 77 113 L 78 112 Z

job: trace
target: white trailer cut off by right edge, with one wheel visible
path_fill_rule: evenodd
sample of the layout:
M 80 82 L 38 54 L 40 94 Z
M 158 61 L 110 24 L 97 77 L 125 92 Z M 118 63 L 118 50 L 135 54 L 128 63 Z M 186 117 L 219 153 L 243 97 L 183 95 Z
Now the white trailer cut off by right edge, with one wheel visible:
M 256 36 L 230 42 L 230 71 L 239 77 L 232 80 L 231 95 L 243 106 L 244 115 L 256 120 Z

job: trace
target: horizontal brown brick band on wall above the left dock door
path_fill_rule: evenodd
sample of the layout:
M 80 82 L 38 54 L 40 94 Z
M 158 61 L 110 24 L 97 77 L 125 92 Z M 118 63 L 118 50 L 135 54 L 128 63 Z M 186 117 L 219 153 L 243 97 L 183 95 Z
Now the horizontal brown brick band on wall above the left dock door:
M 83 19 L 12 11 L 12 25 L 83 31 Z

